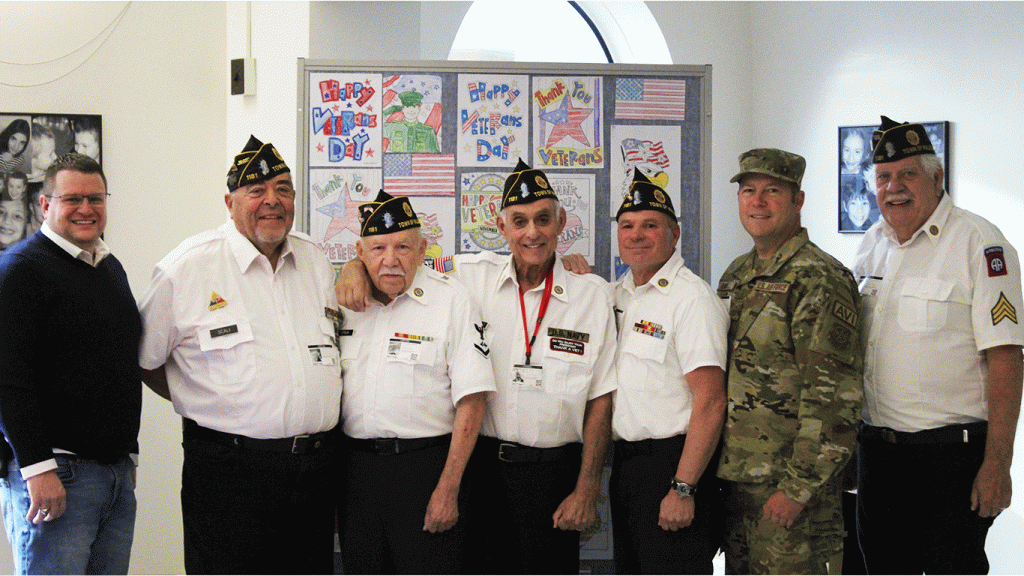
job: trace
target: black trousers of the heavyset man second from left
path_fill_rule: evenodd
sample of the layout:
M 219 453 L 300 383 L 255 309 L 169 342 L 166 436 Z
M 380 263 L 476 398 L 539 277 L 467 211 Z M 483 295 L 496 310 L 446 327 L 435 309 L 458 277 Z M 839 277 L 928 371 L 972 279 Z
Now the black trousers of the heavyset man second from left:
M 189 434 L 181 470 L 185 572 L 334 572 L 333 448 L 290 454 Z

